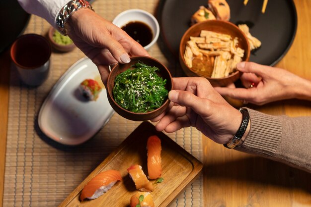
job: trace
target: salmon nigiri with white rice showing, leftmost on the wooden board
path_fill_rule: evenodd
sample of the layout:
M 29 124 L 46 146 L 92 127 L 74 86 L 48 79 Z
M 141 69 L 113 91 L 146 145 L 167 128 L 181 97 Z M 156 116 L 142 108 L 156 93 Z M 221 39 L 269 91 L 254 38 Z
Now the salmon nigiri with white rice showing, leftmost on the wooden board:
M 80 200 L 97 199 L 99 196 L 106 193 L 117 182 L 121 181 L 122 177 L 117 170 L 107 170 L 93 177 L 83 188 Z

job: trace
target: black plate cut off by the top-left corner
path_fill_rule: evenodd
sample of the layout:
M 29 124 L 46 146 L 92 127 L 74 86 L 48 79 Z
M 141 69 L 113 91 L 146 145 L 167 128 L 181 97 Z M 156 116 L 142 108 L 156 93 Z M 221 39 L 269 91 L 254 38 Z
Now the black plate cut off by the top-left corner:
M 0 0 L 0 53 L 23 33 L 30 14 L 22 9 L 17 0 Z

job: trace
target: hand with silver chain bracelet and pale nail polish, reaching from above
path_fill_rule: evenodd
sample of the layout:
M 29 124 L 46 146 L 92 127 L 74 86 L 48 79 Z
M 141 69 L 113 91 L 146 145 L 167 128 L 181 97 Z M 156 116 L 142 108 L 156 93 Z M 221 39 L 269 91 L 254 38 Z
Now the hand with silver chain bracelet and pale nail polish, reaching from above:
M 90 9 L 79 9 L 67 21 L 68 36 L 98 67 L 106 85 L 108 65 L 130 62 L 130 55 L 149 53 L 125 31 Z

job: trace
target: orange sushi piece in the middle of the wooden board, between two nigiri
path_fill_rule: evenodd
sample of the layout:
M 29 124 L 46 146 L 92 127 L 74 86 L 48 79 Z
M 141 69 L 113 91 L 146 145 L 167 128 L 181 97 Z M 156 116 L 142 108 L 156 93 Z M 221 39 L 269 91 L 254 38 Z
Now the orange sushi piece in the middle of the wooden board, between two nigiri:
M 127 169 L 130 177 L 135 183 L 135 187 L 137 190 L 151 192 L 154 191 L 153 184 L 148 180 L 145 175 L 142 166 L 138 164 L 134 164 Z

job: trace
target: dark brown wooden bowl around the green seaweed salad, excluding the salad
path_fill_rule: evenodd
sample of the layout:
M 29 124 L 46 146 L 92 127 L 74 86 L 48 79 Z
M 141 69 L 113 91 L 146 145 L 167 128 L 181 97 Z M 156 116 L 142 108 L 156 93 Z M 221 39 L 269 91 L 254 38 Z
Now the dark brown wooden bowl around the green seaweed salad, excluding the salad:
M 129 110 L 124 109 L 121 107 L 113 98 L 112 90 L 114 88 L 114 79 L 117 75 L 120 73 L 126 71 L 127 69 L 131 68 L 131 66 L 138 61 L 142 61 L 144 64 L 150 65 L 150 66 L 156 66 L 159 68 L 158 75 L 162 77 L 163 79 L 166 79 L 166 85 L 165 88 L 167 91 L 170 91 L 173 89 L 173 80 L 172 76 L 169 72 L 169 70 L 158 60 L 152 57 L 148 56 L 133 56 L 131 57 L 131 62 L 127 64 L 120 64 L 117 63 L 109 73 L 108 80 L 107 80 L 107 97 L 108 101 L 111 105 L 111 107 L 121 116 L 124 118 L 133 120 L 133 121 L 146 121 L 155 118 L 156 116 L 160 115 L 162 112 L 166 110 L 168 107 L 170 101 L 166 99 L 166 101 L 157 109 L 146 112 L 146 113 L 136 113 Z

